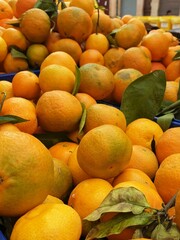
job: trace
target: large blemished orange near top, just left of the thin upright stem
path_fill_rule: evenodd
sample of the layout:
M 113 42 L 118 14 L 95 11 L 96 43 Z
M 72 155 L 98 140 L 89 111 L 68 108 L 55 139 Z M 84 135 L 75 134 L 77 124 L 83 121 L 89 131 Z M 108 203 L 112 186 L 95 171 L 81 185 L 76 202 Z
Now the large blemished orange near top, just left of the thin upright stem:
M 68 7 L 59 11 L 56 24 L 62 38 L 71 38 L 78 43 L 85 41 L 92 32 L 91 17 L 79 7 Z

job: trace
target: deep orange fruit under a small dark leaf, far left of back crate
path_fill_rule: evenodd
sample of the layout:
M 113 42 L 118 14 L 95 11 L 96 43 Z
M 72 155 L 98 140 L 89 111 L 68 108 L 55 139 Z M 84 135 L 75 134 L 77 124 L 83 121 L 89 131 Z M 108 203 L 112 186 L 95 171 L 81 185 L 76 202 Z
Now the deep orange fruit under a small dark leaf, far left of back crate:
M 6 73 L 16 73 L 19 71 L 28 70 L 29 65 L 27 59 L 13 57 L 9 52 L 3 61 L 3 68 Z

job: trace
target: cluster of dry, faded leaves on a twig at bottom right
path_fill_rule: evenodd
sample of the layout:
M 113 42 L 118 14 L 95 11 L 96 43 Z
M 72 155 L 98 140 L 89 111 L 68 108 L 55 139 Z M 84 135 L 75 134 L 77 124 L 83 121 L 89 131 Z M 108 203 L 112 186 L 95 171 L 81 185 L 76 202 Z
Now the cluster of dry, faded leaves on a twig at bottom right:
M 119 234 L 128 227 L 135 227 L 133 238 L 152 238 L 176 240 L 180 232 L 168 218 L 167 210 L 175 202 L 171 200 L 161 210 L 149 206 L 144 194 L 134 187 L 113 189 L 101 205 L 83 219 L 83 223 L 93 223 L 85 240 L 102 239 L 112 234 Z M 114 213 L 114 217 L 103 221 L 103 216 Z

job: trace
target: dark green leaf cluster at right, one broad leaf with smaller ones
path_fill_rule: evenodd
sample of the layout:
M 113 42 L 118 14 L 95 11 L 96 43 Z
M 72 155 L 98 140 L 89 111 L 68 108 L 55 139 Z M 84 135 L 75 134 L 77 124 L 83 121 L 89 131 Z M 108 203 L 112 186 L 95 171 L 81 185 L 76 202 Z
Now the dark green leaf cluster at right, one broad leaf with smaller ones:
M 166 76 L 164 71 L 155 70 L 133 81 L 125 90 L 120 110 L 127 124 L 137 118 L 156 120 L 165 131 L 174 119 L 180 117 L 180 93 L 173 103 L 164 101 Z

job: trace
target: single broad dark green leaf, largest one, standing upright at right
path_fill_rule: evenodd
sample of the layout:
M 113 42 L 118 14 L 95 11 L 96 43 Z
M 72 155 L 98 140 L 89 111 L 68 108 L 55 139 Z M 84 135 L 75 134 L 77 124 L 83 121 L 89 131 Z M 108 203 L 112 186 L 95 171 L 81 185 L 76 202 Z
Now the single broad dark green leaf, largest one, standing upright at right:
M 162 70 L 145 74 L 133 81 L 124 91 L 121 111 L 127 124 L 137 118 L 154 119 L 158 113 L 166 87 L 166 77 Z

